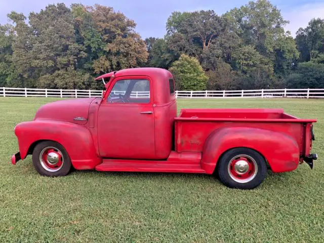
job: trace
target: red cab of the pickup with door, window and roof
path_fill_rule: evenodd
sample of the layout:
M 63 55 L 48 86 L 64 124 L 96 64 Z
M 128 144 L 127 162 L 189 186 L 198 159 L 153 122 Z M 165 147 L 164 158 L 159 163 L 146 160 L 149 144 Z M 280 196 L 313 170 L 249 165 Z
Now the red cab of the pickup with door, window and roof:
M 174 78 L 169 71 L 134 68 L 116 72 L 98 109 L 98 131 L 93 131 L 98 132 L 100 156 L 168 158 L 176 116 Z

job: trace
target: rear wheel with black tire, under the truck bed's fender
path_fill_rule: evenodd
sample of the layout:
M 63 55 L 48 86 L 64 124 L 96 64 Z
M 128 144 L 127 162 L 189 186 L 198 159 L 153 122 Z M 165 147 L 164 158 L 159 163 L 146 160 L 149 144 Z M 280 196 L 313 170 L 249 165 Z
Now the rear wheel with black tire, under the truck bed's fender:
M 239 164 L 241 161 L 242 163 L 247 161 L 247 163 Z M 237 168 L 234 165 L 237 165 Z M 242 167 L 239 167 L 240 165 Z M 242 170 L 243 174 L 239 174 L 239 170 Z M 217 163 L 219 180 L 230 188 L 253 189 L 262 183 L 266 174 L 267 164 L 264 157 L 250 148 L 230 149 L 221 156 Z

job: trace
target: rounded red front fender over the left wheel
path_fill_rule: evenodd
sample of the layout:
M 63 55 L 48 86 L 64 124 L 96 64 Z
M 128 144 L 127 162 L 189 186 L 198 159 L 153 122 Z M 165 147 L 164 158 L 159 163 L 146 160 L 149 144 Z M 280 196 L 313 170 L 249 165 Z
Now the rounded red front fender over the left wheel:
M 32 144 L 40 140 L 60 143 L 70 156 L 77 170 L 94 169 L 101 163 L 90 131 L 82 125 L 65 121 L 36 119 L 15 127 L 20 156 L 24 159 Z

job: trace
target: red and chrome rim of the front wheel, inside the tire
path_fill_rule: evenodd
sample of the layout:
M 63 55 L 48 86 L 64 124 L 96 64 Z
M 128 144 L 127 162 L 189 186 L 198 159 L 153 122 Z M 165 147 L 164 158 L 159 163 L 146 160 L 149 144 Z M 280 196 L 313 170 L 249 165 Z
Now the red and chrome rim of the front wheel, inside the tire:
M 62 152 L 55 147 L 46 147 L 39 154 L 39 162 L 49 172 L 57 172 L 63 167 Z

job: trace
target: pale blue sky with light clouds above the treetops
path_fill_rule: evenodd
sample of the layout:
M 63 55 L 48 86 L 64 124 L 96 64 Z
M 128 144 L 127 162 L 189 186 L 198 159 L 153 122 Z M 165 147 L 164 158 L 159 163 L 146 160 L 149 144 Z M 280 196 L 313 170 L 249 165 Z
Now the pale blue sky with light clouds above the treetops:
M 113 7 L 115 11 L 123 12 L 137 23 L 136 31 L 142 38 L 163 37 L 166 33 L 167 19 L 174 11 L 214 10 L 221 15 L 248 3 L 247 0 L 0 0 L 0 24 L 7 23 L 7 14 L 11 11 L 24 13 L 27 17 L 29 12 L 39 12 L 48 4 L 61 2 L 67 6 L 82 3 Z M 300 27 L 306 27 L 310 19 L 324 18 L 324 0 L 272 0 L 271 3 L 290 21 L 285 29 L 291 31 L 294 37 L 296 31 Z

